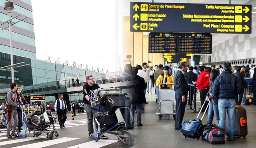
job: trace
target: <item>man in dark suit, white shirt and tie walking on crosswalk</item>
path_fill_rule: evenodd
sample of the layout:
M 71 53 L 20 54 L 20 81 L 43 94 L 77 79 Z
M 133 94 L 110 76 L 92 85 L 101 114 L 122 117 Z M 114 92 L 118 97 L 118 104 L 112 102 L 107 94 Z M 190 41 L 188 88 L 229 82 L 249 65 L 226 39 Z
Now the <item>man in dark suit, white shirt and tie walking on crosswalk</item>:
M 56 100 L 54 104 L 55 112 L 58 115 L 58 121 L 60 124 L 60 128 L 66 128 L 65 122 L 67 119 L 67 103 L 63 99 L 63 94 L 59 94 L 59 99 Z

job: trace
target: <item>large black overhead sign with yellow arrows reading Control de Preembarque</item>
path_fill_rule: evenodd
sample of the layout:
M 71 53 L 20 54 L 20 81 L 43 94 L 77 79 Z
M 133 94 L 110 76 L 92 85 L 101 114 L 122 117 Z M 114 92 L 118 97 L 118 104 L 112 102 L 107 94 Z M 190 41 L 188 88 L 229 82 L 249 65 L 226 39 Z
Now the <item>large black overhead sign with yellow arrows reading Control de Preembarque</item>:
M 130 3 L 131 32 L 250 34 L 252 5 Z

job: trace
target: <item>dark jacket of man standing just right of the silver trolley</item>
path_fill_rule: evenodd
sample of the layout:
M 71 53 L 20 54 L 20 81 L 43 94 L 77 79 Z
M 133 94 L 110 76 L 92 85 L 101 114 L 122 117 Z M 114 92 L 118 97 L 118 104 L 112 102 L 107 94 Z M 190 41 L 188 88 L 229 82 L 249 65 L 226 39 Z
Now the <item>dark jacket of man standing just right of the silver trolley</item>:
M 188 83 L 184 74 L 179 70 L 174 73 L 174 91 L 178 91 L 182 96 L 188 93 Z

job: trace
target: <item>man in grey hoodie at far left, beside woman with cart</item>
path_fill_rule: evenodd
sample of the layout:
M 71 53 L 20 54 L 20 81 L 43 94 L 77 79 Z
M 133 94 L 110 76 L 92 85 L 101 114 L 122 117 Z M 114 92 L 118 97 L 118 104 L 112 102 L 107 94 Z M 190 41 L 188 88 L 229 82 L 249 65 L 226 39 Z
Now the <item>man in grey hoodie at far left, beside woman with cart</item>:
M 6 100 L 6 105 L 8 106 L 8 120 L 7 120 L 8 124 L 7 124 L 7 132 L 6 132 L 7 138 L 19 137 L 19 135 L 15 133 L 18 125 L 17 108 L 21 109 L 22 105 L 19 104 L 17 99 L 17 94 L 16 94 L 17 89 L 18 89 L 17 84 L 12 83 L 11 89 L 9 89 L 7 93 L 7 100 Z M 10 134 L 11 128 L 12 128 L 12 134 Z

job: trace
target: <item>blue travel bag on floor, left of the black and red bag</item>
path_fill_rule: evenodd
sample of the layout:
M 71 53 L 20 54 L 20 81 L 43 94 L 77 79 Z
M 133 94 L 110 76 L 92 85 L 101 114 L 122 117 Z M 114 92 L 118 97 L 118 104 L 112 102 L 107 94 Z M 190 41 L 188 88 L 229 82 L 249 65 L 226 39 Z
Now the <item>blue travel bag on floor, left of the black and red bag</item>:
M 180 132 L 186 137 L 199 139 L 202 134 L 202 120 L 185 120 Z

